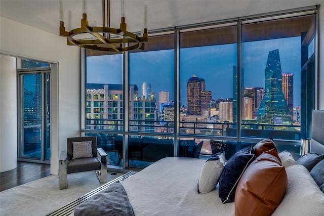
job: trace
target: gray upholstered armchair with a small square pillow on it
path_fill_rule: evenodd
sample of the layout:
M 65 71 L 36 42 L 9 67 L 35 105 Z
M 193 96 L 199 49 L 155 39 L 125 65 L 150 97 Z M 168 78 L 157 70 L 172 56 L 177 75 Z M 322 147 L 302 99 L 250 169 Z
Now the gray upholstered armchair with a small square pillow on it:
M 67 138 L 67 151 L 61 151 L 59 188 L 67 188 L 67 174 L 96 170 L 100 183 L 107 182 L 107 154 L 97 149 L 97 137 Z

